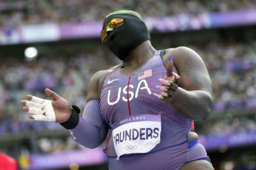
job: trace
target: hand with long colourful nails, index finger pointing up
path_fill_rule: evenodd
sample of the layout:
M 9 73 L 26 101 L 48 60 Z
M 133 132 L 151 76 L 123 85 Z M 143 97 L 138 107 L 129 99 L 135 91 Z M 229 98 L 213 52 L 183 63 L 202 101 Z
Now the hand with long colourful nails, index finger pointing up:
M 173 72 L 173 57 L 170 58 L 166 70 L 164 78 L 159 78 L 159 81 L 162 84 L 161 87 L 159 87 L 161 89 L 161 94 L 154 94 L 163 101 L 168 101 L 172 98 L 178 89 L 180 81 L 180 76 Z

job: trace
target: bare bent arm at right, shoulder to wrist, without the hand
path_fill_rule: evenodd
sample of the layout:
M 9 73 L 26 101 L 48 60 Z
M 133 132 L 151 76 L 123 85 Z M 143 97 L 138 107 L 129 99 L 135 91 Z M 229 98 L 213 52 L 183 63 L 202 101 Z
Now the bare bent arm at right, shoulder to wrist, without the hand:
M 204 61 L 198 53 L 184 46 L 173 48 L 164 55 L 168 61 L 170 56 L 173 56 L 173 66 L 180 81 L 169 103 L 186 117 L 205 120 L 211 113 L 213 99 L 211 78 Z

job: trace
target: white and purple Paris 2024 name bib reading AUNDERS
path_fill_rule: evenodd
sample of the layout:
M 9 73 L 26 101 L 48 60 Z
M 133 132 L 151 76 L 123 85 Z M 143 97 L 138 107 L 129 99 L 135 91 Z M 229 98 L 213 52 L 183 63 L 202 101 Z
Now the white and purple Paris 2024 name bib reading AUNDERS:
M 113 143 L 117 159 L 129 153 L 147 153 L 160 143 L 160 115 L 136 115 L 113 124 Z

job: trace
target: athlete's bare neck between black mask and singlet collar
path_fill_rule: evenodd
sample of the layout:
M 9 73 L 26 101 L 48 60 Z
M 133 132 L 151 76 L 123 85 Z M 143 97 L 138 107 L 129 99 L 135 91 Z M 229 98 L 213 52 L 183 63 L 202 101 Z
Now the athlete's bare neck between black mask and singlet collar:
M 156 49 L 151 45 L 150 41 L 145 41 L 129 53 L 127 58 L 123 61 L 122 67 L 131 67 L 136 69 L 145 61 L 150 59 L 155 52 Z

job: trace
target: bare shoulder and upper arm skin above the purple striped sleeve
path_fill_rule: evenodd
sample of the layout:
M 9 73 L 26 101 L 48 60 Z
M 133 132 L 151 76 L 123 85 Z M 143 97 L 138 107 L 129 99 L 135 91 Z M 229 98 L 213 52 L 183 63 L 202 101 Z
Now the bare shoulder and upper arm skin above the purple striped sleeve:
M 100 99 L 100 92 L 106 76 L 114 71 L 118 66 L 119 65 L 111 67 L 109 69 L 100 70 L 93 74 L 87 88 L 87 101 L 90 101 L 92 99 Z

